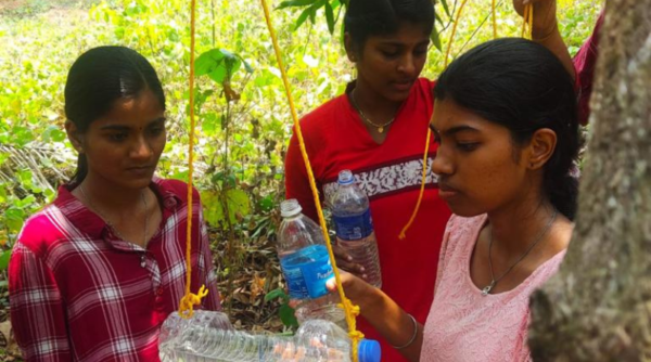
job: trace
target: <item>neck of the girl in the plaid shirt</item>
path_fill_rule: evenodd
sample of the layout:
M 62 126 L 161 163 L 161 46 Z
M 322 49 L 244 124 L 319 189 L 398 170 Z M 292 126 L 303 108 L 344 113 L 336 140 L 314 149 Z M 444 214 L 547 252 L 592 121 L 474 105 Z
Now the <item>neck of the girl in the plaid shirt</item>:
M 118 186 L 92 173 L 84 179 L 80 186 L 84 188 L 86 195 L 93 205 L 105 210 L 104 212 L 111 214 L 139 207 L 142 203 L 141 195 L 146 190 L 146 188 L 129 189 Z

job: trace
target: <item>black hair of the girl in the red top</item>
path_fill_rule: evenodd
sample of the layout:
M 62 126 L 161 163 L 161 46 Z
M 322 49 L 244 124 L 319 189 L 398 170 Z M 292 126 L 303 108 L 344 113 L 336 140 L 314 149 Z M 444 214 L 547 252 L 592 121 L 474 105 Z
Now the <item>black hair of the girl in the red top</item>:
M 401 23 L 423 25 L 426 35 L 434 27 L 432 0 L 350 0 L 344 16 L 344 31 L 361 50 L 370 36 L 394 34 Z

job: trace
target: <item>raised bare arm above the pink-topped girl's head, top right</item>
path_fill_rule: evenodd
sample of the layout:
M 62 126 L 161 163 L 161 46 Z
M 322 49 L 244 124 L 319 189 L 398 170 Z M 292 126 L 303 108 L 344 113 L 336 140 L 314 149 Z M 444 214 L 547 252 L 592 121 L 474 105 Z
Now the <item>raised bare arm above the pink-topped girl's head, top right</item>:
M 563 63 L 567 73 L 574 79 L 574 64 L 567 51 L 567 47 L 559 31 L 557 21 L 557 1 L 556 0 L 513 0 L 513 8 L 522 16 L 524 7 L 527 3 L 534 3 L 534 22 L 532 30 L 532 40 L 549 49 Z

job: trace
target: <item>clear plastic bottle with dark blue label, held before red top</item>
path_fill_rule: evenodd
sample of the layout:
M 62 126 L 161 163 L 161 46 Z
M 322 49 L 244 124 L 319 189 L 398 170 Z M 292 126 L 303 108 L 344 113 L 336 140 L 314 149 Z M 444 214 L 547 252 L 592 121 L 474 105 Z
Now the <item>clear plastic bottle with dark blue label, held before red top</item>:
M 380 257 L 369 198 L 355 183 L 350 170 L 341 171 L 337 183 L 337 191 L 330 201 L 336 243 L 353 257 L 353 262 L 363 267 L 365 280 L 381 287 Z

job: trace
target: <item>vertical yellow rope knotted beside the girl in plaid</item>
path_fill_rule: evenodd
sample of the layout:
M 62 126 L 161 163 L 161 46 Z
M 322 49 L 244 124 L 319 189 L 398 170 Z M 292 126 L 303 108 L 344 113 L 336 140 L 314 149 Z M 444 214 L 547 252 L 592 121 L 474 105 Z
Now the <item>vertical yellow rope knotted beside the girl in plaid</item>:
M 190 141 L 188 146 L 188 229 L 186 240 L 186 295 L 179 302 L 179 314 L 182 318 L 191 318 L 194 314 L 193 307 L 201 303 L 201 299 L 208 294 L 205 285 L 202 285 L 197 294 L 190 292 L 192 282 L 192 172 L 194 156 L 194 13 L 196 0 L 191 1 L 190 7 Z M 201 231 L 197 236 L 201 237 Z

